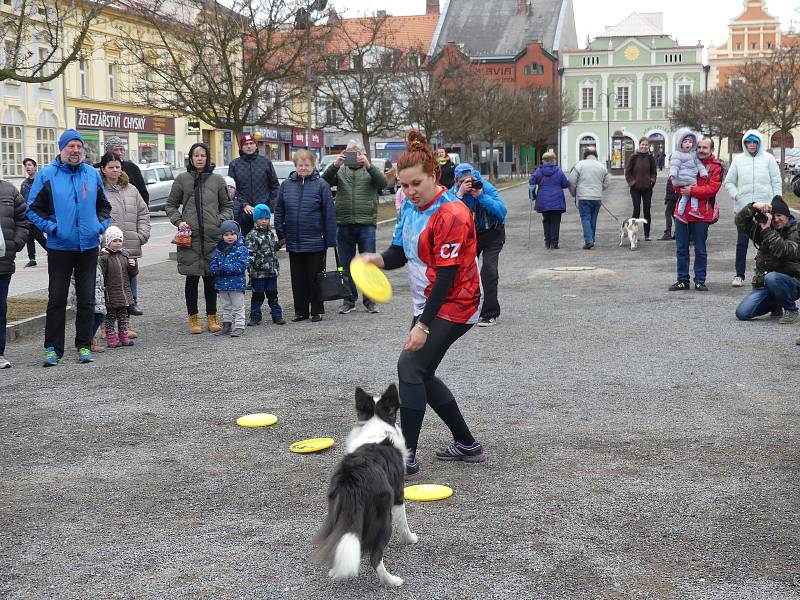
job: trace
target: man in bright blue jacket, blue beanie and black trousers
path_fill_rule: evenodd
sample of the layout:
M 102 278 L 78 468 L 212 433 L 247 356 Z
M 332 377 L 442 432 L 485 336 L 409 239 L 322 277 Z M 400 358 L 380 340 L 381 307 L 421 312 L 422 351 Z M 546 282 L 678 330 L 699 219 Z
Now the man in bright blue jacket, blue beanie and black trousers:
M 75 347 L 78 360 L 92 362 L 94 285 L 100 235 L 106 230 L 111 204 L 99 173 L 83 162 L 83 138 L 67 129 L 58 139 L 59 155 L 39 171 L 27 201 L 28 219 L 47 234 L 50 278 L 44 328 L 44 366 L 64 356 L 67 296 L 75 274 L 77 313 Z

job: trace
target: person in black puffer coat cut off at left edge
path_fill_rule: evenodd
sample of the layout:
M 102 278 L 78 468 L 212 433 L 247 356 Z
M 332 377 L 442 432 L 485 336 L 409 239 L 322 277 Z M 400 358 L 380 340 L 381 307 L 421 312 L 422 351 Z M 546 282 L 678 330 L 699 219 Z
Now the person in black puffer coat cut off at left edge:
M 11 363 L 6 360 L 6 317 L 8 286 L 15 271 L 14 257 L 28 241 L 28 218 L 25 200 L 13 185 L 0 180 L 0 369 Z

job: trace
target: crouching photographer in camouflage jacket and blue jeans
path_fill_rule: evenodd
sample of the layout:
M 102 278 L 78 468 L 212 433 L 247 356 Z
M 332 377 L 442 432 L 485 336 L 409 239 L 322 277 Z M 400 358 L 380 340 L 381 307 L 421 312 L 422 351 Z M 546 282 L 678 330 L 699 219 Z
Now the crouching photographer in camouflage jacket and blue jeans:
M 775 196 L 772 204 L 748 204 L 736 215 L 736 227 L 758 248 L 753 291 L 736 307 L 736 318 L 749 321 L 772 313 L 780 316 L 778 323 L 797 322 L 800 231 L 786 202 Z

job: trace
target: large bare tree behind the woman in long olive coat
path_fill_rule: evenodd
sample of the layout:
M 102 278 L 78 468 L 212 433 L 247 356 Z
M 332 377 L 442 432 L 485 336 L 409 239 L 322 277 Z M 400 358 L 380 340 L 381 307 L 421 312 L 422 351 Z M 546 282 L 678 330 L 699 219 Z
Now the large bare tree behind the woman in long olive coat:
M 123 42 L 137 101 L 230 129 L 236 140 L 245 126 L 273 122 L 280 108 L 275 85 L 297 78 L 305 56 L 305 36 L 293 25 L 306 3 L 161 1 L 133 5 L 149 28 Z

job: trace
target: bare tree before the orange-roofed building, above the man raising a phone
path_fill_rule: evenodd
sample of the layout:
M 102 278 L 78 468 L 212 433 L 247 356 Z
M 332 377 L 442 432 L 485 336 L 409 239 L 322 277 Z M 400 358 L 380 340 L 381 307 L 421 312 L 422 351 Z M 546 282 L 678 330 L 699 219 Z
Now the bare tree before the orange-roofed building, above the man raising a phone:
M 407 55 L 393 47 L 395 32 L 385 15 L 329 27 L 327 60 L 315 78 L 318 95 L 338 116 L 327 125 L 358 133 L 369 153 L 371 138 L 405 125 L 398 72 Z

